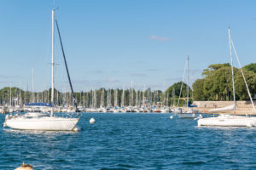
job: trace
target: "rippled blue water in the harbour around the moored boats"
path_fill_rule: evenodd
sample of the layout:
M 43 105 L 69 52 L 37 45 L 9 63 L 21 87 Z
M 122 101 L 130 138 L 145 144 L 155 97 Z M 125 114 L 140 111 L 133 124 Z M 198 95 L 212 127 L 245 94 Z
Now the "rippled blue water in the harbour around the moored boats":
M 196 127 L 169 116 L 84 113 L 78 133 L 0 127 L 0 169 L 22 161 L 40 170 L 256 169 L 255 127 Z

